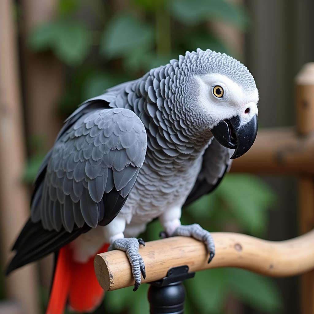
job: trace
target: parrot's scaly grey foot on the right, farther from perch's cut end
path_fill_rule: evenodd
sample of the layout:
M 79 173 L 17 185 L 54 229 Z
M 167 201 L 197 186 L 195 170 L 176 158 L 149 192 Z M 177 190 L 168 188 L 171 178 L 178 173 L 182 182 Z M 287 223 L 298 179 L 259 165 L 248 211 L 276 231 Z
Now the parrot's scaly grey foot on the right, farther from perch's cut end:
M 215 244 L 212 235 L 207 230 L 204 230 L 200 225 L 193 224 L 187 226 L 179 226 L 176 228 L 172 236 L 190 236 L 196 240 L 205 243 L 209 252 L 208 263 L 214 258 Z

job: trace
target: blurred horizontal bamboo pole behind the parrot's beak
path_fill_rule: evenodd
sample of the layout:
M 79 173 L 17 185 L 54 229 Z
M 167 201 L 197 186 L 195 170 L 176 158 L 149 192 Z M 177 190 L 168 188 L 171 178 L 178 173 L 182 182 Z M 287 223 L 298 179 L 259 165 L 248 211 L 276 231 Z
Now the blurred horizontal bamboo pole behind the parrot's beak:
M 313 156 L 314 134 L 300 136 L 295 127 L 267 128 L 258 132 L 246 154 L 233 161 L 231 172 L 314 176 Z

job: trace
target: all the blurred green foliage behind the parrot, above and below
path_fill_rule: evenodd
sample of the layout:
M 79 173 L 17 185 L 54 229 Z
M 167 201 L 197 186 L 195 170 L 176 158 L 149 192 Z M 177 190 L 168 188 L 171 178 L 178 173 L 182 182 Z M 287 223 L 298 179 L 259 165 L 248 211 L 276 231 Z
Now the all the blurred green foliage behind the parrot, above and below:
M 79 103 L 108 87 L 138 78 L 186 50 L 210 48 L 232 55 L 211 31 L 211 22 L 245 30 L 246 8 L 225 0 L 130 0 L 123 10 L 113 1 L 59 0 L 55 19 L 36 27 L 29 45 L 34 51 L 53 51 L 68 67 L 68 84 L 59 104 L 63 117 Z M 236 57 L 236 56 L 235 56 Z M 41 145 L 37 146 L 40 147 Z M 29 160 L 25 180 L 34 179 L 41 149 Z M 211 231 L 237 230 L 263 236 L 274 194 L 260 179 L 227 175 L 208 196 L 183 211 L 182 223 L 200 223 Z M 152 222 L 143 234 L 154 240 L 162 230 Z M 213 269 L 187 280 L 186 313 L 224 313 L 228 296 L 264 312 L 278 312 L 281 298 L 273 281 L 240 269 Z M 148 313 L 148 285 L 108 292 L 108 313 Z M 46 296 L 43 298 L 46 300 Z M 103 311 L 103 310 L 101 310 Z

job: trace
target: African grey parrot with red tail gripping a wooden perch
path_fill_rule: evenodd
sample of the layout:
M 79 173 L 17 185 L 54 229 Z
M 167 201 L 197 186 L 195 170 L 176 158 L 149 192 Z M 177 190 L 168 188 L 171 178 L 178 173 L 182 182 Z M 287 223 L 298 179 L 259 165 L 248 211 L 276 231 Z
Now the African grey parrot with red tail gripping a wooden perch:
M 8 273 L 59 252 L 47 313 L 61 313 L 67 299 L 73 309 L 91 310 L 102 290 L 90 261 L 106 243 L 125 251 L 137 290 L 145 266 L 138 253 L 144 242 L 136 237 L 154 218 L 168 236 L 203 241 L 210 262 L 210 233 L 182 226 L 181 208 L 211 192 L 230 158 L 252 146 L 257 101 L 243 64 L 201 49 L 85 101 L 40 167 L 31 217 L 14 244 Z M 67 288 L 56 296 L 61 286 Z

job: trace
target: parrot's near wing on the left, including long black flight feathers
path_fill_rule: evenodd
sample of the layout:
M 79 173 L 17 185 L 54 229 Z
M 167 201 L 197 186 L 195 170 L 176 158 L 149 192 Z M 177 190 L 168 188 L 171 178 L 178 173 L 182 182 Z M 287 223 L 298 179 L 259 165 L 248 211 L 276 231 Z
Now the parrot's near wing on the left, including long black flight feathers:
M 97 109 L 100 104 L 104 107 L 98 101 L 88 113 L 85 107 L 78 118 L 70 117 L 45 158 L 31 219 L 13 247 L 17 254 L 7 272 L 107 225 L 125 203 L 145 159 L 145 127 L 133 111 Z

